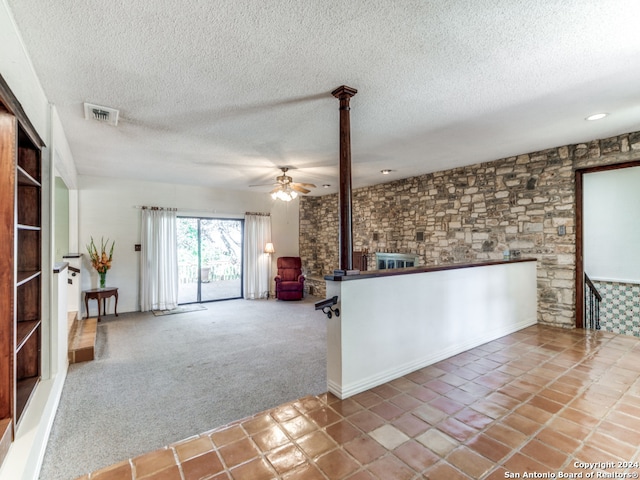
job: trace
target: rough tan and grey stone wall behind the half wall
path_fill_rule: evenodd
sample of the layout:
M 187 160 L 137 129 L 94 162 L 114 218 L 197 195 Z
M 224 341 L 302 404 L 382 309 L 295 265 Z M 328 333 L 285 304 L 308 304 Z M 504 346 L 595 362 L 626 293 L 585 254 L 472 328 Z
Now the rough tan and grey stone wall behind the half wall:
M 519 250 L 538 259 L 538 321 L 574 327 L 575 170 L 637 159 L 640 132 L 355 189 L 354 250 L 417 253 L 422 265 Z M 307 275 L 338 268 L 338 248 L 337 194 L 302 198 Z

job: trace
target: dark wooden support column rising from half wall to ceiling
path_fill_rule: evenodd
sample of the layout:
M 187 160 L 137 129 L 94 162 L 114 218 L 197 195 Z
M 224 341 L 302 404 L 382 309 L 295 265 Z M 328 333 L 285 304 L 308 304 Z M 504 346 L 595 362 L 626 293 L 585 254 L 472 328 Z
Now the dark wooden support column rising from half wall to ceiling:
M 351 121 L 349 100 L 358 91 L 342 85 L 331 95 L 340 100 L 340 193 L 338 196 L 340 269 L 353 268 L 353 230 L 351 221 Z

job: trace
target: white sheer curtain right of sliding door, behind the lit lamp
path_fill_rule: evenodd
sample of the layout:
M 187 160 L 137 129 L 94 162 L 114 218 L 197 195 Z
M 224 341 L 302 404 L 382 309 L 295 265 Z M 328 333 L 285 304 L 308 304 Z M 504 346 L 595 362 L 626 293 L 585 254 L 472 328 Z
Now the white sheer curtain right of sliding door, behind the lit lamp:
M 271 217 L 247 213 L 244 216 L 244 298 L 268 298 L 271 258 L 264 246 L 271 241 Z

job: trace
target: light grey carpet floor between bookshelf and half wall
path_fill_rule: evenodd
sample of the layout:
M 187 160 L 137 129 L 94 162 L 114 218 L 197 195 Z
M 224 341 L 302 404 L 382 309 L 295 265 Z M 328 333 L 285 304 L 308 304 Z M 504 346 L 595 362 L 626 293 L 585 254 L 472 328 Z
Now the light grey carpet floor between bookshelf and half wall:
M 96 360 L 69 368 L 40 479 L 74 479 L 325 392 L 326 317 L 317 300 L 103 317 Z

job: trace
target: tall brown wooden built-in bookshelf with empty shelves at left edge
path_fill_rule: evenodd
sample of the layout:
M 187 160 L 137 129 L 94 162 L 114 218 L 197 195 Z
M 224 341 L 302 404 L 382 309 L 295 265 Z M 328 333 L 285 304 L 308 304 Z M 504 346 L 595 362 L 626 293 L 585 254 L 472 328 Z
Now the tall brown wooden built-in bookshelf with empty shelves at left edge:
M 41 146 L 0 77 L 0 462 L 41 374 Z

